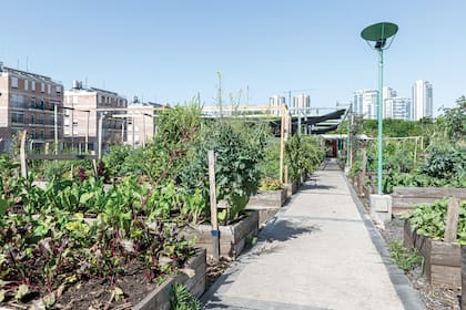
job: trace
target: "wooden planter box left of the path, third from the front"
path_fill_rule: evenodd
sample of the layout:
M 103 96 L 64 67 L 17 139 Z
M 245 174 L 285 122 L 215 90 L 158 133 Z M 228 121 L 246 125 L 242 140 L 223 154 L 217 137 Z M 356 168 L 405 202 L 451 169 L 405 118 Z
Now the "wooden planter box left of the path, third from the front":
M 269 221 L 286 202 L 286 188 L 278 190 L 260 190 L 250 198 L 249 210 L 259 211 L 259 224 Z

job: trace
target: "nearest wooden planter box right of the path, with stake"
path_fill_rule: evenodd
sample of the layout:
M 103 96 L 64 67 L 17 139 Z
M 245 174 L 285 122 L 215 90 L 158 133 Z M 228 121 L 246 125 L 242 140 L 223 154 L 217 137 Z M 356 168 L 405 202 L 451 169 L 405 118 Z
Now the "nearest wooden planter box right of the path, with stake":
M 459 289 L 462 287 L 462 254 L 455 242 L 435 241 L 418 236 L 405 220 L 404 246 L 417 248 L 424 257 L 424 276 L 433 287 Z

